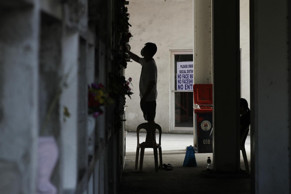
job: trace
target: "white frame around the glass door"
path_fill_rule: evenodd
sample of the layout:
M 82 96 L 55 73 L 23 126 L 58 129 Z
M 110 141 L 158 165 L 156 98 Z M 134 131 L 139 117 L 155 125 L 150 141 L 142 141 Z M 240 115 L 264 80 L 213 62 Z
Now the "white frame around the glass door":
M 174 55 L 193 55 L 193 49 L 181 49 L 181 50 L 170 50 L 170 131 L 179 131 L 179 132 L 190 132 L 193 131 L 194 127 L 175 127 L 175 56 Z M 194 73 L 193 73 L 194 79 Z M 179 90 L 179 92 L 191 92 L 189 90 Z M 192 91 L 193 92 L 193 91 Z M 192 99 L 193 100 L 193 99 Z M 194 114 L 193 114 L 194 122 Z M 193 123 L 194 126 L 194 123 Z M 186 129 L 186 130 L 183 130 Z

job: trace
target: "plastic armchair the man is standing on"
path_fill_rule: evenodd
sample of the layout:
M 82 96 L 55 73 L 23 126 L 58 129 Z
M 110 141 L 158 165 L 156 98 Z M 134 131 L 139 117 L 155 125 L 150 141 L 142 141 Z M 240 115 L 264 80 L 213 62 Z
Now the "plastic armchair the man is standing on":
M 139 143 L 139 130 L 146 129 L 146 141 Z M 159 143 L 156 143 L 156 129 L 159 130 Z M 153 148 L 154 149 L 154 157 L 155 157 L 155 169 L 158 172 L 158 149 L 159 149 L 159 157 L 160 157 L 160 169 L 163 167 L 162 162 L 162 147 L 161 147 L 161 135 L 162 128 L 160 125 L 156 123 L 142 123 L 136 129 L 137 135 L 137 146 L 136 146 L 136 156 L 135 156 L 135 169 L 137 169 L 139 162 L 139 149 L 140 149 L 140 162 L 139 162 L 139 171 L 142 171 L 143 164 L 143 156 L 145 153 L 145 148 Z

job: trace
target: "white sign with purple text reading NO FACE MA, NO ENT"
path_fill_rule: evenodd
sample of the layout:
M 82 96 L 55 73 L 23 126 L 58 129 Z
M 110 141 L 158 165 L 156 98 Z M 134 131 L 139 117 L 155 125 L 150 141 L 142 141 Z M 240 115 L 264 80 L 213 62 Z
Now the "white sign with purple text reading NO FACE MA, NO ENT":
M 177 62 L 177 90 L 193 90 L 193 61 Z

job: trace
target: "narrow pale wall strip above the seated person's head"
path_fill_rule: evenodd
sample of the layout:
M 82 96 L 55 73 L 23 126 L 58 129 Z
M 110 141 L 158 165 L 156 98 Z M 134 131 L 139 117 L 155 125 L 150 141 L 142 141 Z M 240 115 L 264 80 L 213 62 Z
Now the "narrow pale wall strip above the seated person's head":
M 242 98 L 246 99 L 250 107 L 249 94 L 249 0 L 239 1 L 240 48 L 242 49 Z

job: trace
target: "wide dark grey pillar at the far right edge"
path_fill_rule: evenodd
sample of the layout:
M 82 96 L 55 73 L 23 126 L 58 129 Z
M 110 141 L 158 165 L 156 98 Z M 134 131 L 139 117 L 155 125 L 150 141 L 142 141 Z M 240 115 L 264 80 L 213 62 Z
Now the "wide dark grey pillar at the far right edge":
M 250 14 L 252 193 L 290 193 L 290 1 Z

